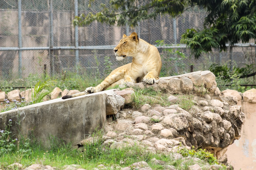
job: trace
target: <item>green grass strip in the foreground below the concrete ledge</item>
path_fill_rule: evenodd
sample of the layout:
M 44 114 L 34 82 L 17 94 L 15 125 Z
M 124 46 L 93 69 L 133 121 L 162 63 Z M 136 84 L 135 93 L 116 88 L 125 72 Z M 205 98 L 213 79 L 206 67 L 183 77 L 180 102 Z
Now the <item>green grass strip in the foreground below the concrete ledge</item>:
M 174 165 L 177 169 L 184 169 L 182 161 L 173 160 L 172 154 L 153 153 L 148 151 L 146 147 L 142 147 L 140 143 L 122 149 L 111 149 L 109 146 L 103 145 L 102 130 L 92 134 L 93 142 L 84 143 L 76 149 L 71 143 L 65 144 L 55 137 L 50 137 L 51 145 L 50 148 L 46 149 L 41 146 L 39 141 L 33 140 L 33 135 L 12 139 L 13 134 L 9 132 L 10 126 L 12 126 L 11 120 L 3 132 L 0 132 L 0 169 L 8 169 L 8 165 L 16 162 L 25 167 L 31 164 L 42 164 L 62 169 L 64 165 L 76 164 L 80 165 L 81 168 L 93 169 L 99 164 L 103 164 L 106 169 L 121 169 L 121 167 L 127 167 L 139 161 L 147 162 L 152 169 L 164 169 L 162 165 L 153 164 L 151 162 L 153 158 L 165 161 L 168 165 Z M 213 155 L 205 150 L 196 151 L 193 148 L 189 151 L 184 149 L 180 153 L 184 156 L 200 158 L 210 164 L 216 163 Z M 193 164 L 194 162 L 191 161 L 186 166 Z

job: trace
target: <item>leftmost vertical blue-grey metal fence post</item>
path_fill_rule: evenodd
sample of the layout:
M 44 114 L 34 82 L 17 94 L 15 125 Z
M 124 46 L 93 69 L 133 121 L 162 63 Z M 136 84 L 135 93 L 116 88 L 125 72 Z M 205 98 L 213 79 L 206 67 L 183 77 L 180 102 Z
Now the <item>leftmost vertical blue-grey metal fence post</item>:
M 22 78 L 22 32 L 21 32 L 21 0 L 18 0 L 18 37 L 19 37 L 19 78 Z

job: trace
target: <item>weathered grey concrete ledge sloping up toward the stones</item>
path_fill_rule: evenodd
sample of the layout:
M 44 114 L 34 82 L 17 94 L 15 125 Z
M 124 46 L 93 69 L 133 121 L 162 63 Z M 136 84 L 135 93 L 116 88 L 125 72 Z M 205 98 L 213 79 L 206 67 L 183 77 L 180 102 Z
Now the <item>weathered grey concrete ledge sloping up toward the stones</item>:
M 12 120 L 10 131 L 17 138 L 32 135 L 45 147 L 50 138 L 78 145 L 106 119 L 106 93 L 83 95 L 63 100 L 53 99 L 0 113 L 0 129 Z

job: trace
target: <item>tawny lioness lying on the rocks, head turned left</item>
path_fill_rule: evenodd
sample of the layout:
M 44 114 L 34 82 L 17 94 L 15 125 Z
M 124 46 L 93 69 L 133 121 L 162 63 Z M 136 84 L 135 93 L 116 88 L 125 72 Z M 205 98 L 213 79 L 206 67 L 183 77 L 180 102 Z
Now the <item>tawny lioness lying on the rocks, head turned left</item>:
M 66 95 L 62 99 L 96 93 L 117 84 L 145 82 L 153 84 L 159 78 L 162 61 L 158 49 L 138 38 L 133 32 L 130 36 L 123 35 L 119 44 L 114 48 L 116 60 L 132 57 L 132 62 L 113 70 L 103 82 L 96 87 L 88 87 L 84 92 Z

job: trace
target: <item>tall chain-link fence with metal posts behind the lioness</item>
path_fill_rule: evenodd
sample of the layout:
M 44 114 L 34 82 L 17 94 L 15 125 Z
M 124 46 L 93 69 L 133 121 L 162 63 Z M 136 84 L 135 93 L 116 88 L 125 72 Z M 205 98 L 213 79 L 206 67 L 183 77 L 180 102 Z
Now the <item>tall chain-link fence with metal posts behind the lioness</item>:
M 193 8 L 173 19 L 158 16 L 142 21 L 135 28 L 116 27 L 93 22 L 86 27 L 74 27 L 75 15 L 100 10 L 106 0 L 0 0 L 0 79 L 27 77 L 30 74 L 58 75 L 78 69 L 93 75 L 99 60 L 101 74 L 125 63 L 116 61 L 113 48 L 123 33 L 135 31 L 145 41 L 159 45 L 163 67 L 161 76 L 208 70 L 212 63 L 242 66 L 255 62 L 255 47 L 239 45 L 230 53 L 203 54 L 190 57 L 185 45 L 178 45 L 186 29 L 201 29 L 206 12 Z M 172 46 L 168 44 L 173 44 Z M 163 46 L 167 45 L 167 46 Z M 103 64 L 103 63 L 112 63 Z M 193 67 L 191 67 L 193 66 Z M 232 65 L 231 65 L 232 66 Z M 104 74 L 105 75 L 105 74 Z

